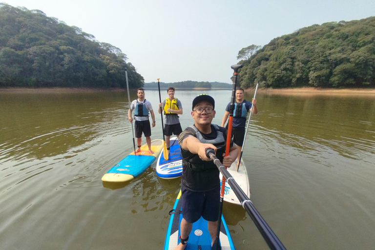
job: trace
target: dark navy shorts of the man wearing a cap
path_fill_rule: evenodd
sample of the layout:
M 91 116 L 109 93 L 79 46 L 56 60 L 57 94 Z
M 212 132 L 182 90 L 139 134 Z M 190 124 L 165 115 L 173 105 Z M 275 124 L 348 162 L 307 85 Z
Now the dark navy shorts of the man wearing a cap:
M 207 192 L 194 192 L 182 187 L 182 217 L 194 223 L 202 216 L 207 221 L 217 221 L 220 205 L 220 187 Z

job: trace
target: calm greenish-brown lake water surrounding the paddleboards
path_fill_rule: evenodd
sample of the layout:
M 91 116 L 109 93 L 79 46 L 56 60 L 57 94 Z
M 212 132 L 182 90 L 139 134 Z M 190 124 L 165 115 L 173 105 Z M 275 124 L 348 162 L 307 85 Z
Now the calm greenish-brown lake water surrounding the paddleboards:
M 199 93 L 176 91 L 183 127 Z M 231 91 L 206 93 L 221 124 Z M 146 99 L 157 108 L 157 91 Z M 251 200 L 285 247 L 374 249 L 375 98 L 257 100 L 243 159 Z M 154 163 L 126 184 L 101 181 L 132 151 L 127 108 L 125 92 L 0 92 L 1 250 L 163 248 L 180 179 L 157 178 Z M 161 139 L 155 116 L 151 138 Z M 224 216 L 237 250 L 268 249 L 241 206 L 225 203 Z

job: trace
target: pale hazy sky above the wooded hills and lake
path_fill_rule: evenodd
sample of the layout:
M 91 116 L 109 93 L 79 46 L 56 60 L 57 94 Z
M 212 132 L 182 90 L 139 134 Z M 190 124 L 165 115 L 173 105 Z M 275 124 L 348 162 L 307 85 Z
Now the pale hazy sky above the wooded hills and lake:
M 1 0 L 0 0 L 1 1 Z M 230 83 L 238 51 L 299 28 L 375 16 L 375 0 L 4 0 L 80 27 L 145 82 Z

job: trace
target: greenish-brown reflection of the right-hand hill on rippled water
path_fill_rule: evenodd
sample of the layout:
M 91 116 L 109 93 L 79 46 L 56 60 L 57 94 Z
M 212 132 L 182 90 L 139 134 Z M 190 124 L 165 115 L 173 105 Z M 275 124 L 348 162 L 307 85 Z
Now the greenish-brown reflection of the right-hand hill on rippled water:
M 254 124 L 264 138 L 302 151 L 328 147 L 357 160 L 375 153 L 373 98 L 259 95 L 258 100 Z

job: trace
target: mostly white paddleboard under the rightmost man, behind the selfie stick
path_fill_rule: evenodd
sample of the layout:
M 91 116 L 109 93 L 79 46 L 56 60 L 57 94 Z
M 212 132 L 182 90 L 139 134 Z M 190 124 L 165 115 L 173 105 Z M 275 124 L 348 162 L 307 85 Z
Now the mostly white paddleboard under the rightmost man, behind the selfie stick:
M 230 167 L 227 168 L 230 175 L 236 181 L 236 183 L 241 187 L 241 189 L 245 192 L 245 194 L 250 199 L 250 185 L 249 185 L 249 176 L 248 172 L 246 171 L 245 163 L 241 160 L 242 165 L 237 170 L 237 160 L 232 163 Z M 223 180 L 223 175 L 220 173 L 220 185 L 221 181 Z M 230 188 L 227 181 L 225 182 L 225 189 L 224 189 L 224 201 L 241 205 L 241 202 L 238 200 L 237 196 L 235 195 L 232 188 Z

